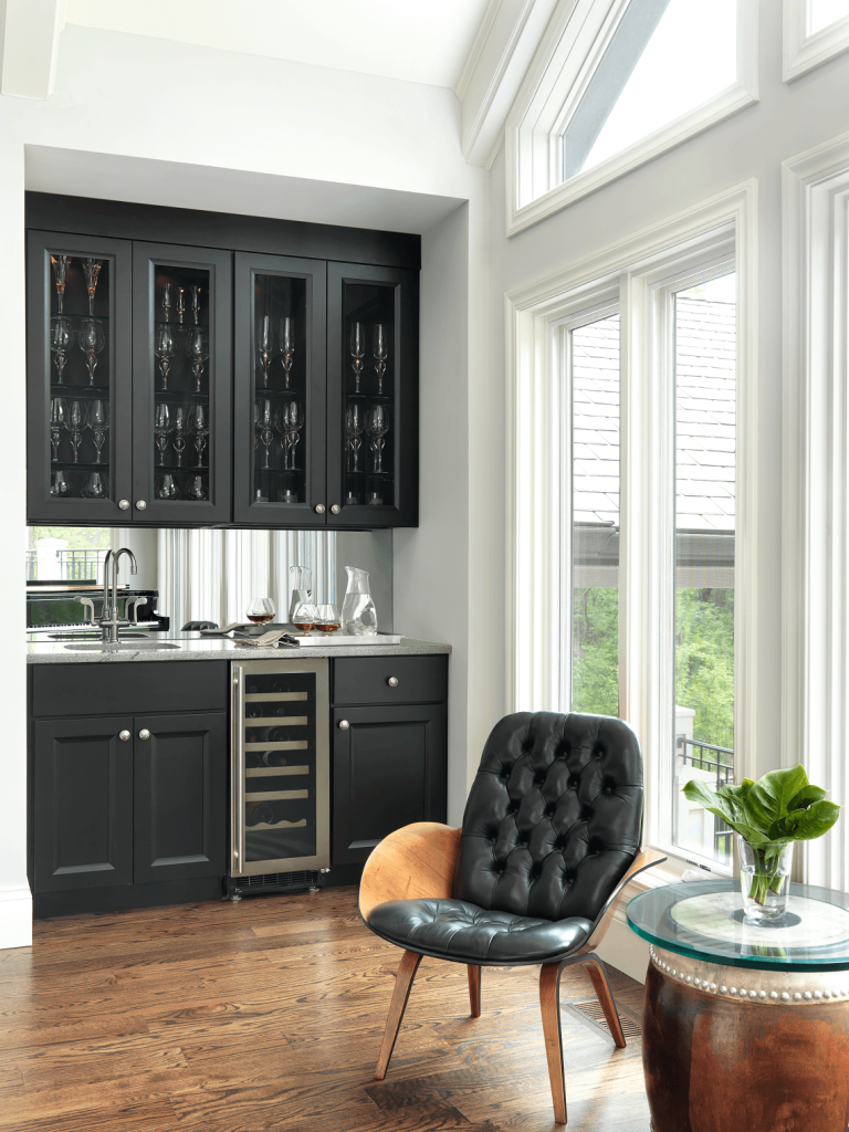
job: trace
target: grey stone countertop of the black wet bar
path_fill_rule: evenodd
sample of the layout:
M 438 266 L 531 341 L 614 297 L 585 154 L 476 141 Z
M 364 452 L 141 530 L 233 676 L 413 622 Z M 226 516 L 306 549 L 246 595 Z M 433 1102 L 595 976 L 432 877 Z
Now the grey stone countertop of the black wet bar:
M 65 643 L 42 641 L 27 643 L 27 664 L 103 664 L 122 661 L 168 661 L 168 660 L 283 660 L 286 657 L 302 660 L 305 657 L 427 657 L 451 652 L 449 644 L 434 641 L 417 641 L 403 637 L 401 644 L 362 645 L 342 648 L 340 645 L 311 645 L 308 649 L 254 649 L 237 644 L 226 637 L 204 637 L 198 633 L 169 633 L 154 640 L 175 644 L 175 649 L 153 649 L 147 642 L 127 641 L 122 648 L 102 645 L 100 642 L 80 642 L 94 645 L 91 650 L 67 649 Z M 67 642 L 66 642 L 67 643 Z M 147 645 L 145 648 L 145 645 Z

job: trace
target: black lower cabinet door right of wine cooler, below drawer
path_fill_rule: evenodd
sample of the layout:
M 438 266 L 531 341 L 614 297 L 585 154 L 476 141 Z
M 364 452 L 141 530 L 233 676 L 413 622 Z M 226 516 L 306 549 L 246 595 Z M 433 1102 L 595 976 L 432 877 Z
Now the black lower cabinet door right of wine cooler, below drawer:
M 334 710 L 334 865 L 361 864 L 410 822 L 445 821 L 446 721 L 445 704 Z

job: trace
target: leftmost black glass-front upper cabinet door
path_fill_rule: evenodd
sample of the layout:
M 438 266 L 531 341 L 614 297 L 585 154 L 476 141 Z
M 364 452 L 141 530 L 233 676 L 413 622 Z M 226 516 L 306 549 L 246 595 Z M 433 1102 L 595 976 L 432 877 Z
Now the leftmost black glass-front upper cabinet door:
M 109 523 L 129 507 L 131 261 L 126 240 L 29 233 L 31 522 Z

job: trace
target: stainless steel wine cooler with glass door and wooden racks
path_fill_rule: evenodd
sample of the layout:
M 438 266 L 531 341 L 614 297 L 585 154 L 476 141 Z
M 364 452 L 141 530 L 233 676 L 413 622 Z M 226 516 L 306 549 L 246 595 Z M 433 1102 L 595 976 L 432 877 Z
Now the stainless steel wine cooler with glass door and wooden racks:
M 331 864 L 327 660 L 232 666 L 233 877 Z

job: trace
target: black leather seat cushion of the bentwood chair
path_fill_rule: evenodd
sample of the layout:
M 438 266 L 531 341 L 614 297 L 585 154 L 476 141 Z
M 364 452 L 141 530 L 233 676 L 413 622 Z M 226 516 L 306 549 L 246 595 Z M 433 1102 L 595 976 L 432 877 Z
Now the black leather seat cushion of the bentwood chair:
M 592 923 L 514 916 L 465 900 L 389 900 L 369 916 L 377 935 L 405 951 L 461 963 L 520 966 L 547 963 L 577 950 Z

